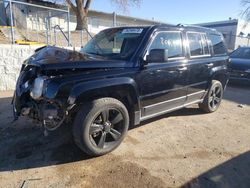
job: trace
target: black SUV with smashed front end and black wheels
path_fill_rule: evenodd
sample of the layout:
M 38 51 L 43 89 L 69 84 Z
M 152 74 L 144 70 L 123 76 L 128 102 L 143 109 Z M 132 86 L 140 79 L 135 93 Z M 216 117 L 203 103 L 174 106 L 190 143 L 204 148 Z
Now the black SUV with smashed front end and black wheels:
M 129 126 L 199 104 L 218 109 L 228 82 L 228 53 L 216 30 L 194 26 L 118 27 L 81 52 L 47 46 L 21 68 L 14 115 L 55 130 L 72 122 L 76 144 L 99 156 Z

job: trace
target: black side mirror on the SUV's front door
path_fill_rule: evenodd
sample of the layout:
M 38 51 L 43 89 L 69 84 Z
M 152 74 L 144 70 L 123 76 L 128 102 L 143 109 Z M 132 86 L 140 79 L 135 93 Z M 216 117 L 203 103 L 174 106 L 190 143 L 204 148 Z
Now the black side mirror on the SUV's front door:
M 146 56 L 147 63 L 162 63 L 168 61 L 167 49 L 152 49 Z

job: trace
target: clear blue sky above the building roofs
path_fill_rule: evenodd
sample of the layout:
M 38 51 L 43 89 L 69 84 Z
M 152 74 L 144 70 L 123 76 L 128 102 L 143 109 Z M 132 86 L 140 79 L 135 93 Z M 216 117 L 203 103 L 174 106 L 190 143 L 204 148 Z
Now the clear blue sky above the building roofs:
M 91 10 L 154 19 L 171 24 L 195 24 L 241 17 L 240 0 L 142 0 L 139 7 L 123 12 L 111 0 L 94 0 Z

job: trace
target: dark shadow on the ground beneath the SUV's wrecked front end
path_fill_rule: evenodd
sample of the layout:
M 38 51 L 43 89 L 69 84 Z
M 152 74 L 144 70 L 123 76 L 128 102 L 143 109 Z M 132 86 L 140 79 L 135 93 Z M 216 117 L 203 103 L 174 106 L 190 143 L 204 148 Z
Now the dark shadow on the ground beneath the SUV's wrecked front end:
M 0 98 L 0 171 L 12 171 L 85 160 L 70 127 L 44 137 L 43 128 L 24 118 L 13 122 L 11 98 Z

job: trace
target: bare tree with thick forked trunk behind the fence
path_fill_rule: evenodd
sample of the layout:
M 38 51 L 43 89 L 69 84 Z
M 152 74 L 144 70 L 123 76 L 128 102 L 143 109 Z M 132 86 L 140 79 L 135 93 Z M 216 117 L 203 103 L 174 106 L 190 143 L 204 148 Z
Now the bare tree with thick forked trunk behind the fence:
M 65 0 L 69 5 L 71 11 L 76 15 L 76 30 L 87 28 L 88 24 L 88 11 L 92 0 Z M 111 0 L 123 11 L 127 11 L 128 7 L 139 5 L 142 0 Z

